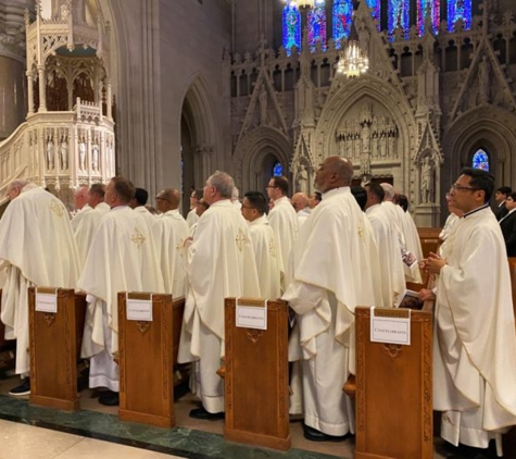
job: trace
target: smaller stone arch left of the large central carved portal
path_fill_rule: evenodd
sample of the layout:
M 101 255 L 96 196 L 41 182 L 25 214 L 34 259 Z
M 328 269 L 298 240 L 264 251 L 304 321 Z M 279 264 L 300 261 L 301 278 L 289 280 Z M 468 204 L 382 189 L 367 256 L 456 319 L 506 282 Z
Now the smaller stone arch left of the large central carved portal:
M 249 132 L 235 149 L 234 162 L 236 164 L 235 181 L 243 191 L 255 189 L 263 191 L 270 174 L 275 160 L 284 165 L 287 173 L 292 154 L 292 142 L 281 133 L 270 126 L 260 126 Z

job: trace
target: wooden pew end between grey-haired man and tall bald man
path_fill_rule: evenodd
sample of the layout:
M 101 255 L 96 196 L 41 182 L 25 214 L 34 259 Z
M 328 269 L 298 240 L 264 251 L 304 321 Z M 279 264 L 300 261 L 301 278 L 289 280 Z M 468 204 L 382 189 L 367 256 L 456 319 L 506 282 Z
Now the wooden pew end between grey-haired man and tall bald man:
M 264 300 L 239 299 L 260 307 Z M 288 305 L 267 302 L 267 330 L 237 326 L 237 300 L 226 298 L 226 424 L 231 442 L 287 450 L 289 432 Z

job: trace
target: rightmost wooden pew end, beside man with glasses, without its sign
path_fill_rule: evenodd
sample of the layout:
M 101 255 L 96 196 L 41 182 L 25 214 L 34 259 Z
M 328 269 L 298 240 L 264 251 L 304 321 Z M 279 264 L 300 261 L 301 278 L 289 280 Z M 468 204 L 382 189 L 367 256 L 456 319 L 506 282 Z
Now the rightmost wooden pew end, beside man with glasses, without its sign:
M 369 308 L 355 321 L 355 459 L 432 459 L 432 314 L 411 312 L 410 346 L 370 342 Z

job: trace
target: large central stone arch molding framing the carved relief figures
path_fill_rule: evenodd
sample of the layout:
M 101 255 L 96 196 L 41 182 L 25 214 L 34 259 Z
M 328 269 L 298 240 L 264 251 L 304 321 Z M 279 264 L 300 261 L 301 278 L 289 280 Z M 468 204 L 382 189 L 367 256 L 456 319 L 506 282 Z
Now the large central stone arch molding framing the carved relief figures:
M 394 159 L 389 158 L 376 163 L 373 161 L 372 166 L 377 171 L 375 175 L 385 176 L 390 172 L 397 188 L 407 195 L 413 193 L 411 159 L 417 140 L 417 127 L 413 109 L 398 88 L 373 75 L 365 75 L 351 80 L 337 76 L 317 123 L 312 148 L 315 160 L 319 163 L 328 156 L 340 154 L 337 144 L 339 124 L 352 108 L 360 106 L 361 99 L 383 107 L 398 129 L 398 151 L 400 154 Z M 364 168 L 361 168 L 360 163 L 353 165 L 355 173 L 361 174 L 361 169 Z

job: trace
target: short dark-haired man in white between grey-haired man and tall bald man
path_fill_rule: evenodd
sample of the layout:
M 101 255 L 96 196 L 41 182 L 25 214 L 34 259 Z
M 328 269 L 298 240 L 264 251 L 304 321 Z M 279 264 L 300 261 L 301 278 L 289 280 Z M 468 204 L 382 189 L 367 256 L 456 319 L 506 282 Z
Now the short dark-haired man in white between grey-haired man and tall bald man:
M 267 199 L 262 193 L 246 193 L 241 211 L 249 223 L 262 298 L 278 299 L 281 296 L 281 273 L 276 239 L 265 214 L 267 208 Z

